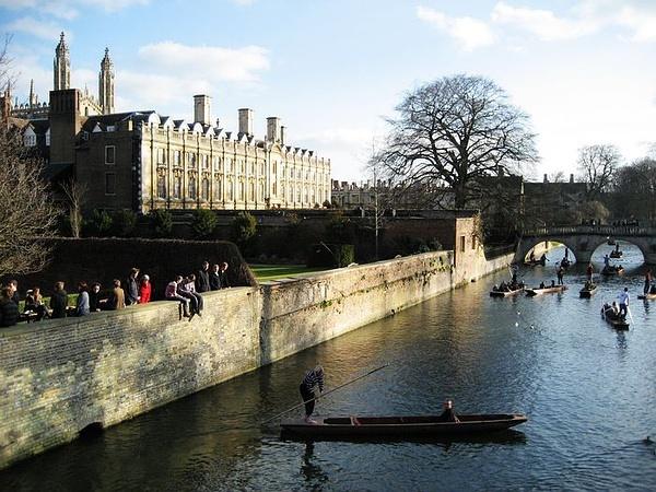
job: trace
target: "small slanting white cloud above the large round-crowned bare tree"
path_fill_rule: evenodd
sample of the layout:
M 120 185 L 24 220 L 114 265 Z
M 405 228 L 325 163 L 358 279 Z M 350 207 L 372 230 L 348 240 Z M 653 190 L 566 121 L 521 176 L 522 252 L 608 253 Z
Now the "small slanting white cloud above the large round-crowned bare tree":
M 448 34 L 466 51 L 492 45 L 494 33 L 483 21 L 473 17 L 452 17 L 443 12 L 419 5 L 417 16 L 433 27 Z

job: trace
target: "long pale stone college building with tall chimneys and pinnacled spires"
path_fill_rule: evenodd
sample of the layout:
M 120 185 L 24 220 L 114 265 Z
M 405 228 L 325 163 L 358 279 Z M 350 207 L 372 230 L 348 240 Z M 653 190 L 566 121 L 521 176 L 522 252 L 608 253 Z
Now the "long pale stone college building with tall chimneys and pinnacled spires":
M 114 67 L 101 62 L 98 97 L 70 87 L 63 33 L 54 61 L 49 104 L 31 89 L 26 104 L 5 92 L 2 116 L 21 128 L 23 142 L 39 148 L 46 175 L 74 178 L 85 189 L 84 208 L 309 209 L 330 202 L 330 160 L 285 142 L 279 117 L 267 134 L 254 134 L 253 109 L 238 110 L 238 131 L 211 120 L 211 97 L 194 96 L 194 120 L 155 110 L 114 112 Z

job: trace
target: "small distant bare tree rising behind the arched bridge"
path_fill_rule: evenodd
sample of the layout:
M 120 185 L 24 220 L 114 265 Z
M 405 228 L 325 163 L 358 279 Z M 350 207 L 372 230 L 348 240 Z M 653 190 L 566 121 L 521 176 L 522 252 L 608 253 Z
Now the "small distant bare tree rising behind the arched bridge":
M 597 144 L 578 150 L 578 171 L 588 186 L 588 200 L 609 191 L 622 156 L 614 145 Z

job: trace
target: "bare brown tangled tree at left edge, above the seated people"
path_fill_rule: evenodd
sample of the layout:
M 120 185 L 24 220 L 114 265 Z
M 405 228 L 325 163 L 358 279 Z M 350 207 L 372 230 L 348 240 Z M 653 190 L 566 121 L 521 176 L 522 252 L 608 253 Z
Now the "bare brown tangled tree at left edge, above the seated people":
M 10 79 L 9 38 L 0 49 L 0 87 Z M 21 132 L 9 121 L 0 126 L 0 277 L 40 270 L 50 253 L 58 211 L 47 185 L 43 164 L 23 147 Z

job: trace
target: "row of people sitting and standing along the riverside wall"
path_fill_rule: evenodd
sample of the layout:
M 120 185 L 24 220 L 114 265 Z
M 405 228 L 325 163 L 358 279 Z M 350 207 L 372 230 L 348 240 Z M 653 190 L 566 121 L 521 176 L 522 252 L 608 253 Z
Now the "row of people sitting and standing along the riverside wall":
M 198 274 L 180 276 L 166 286 L 165 298 L 179 301 L 186 317 L 200 315 L 203 308 L 201 292 L 215 291 L 230 286 L 227 262 L 214 265 L 212 270 L 208 261 L 202 263 Z M 173 293 L 171 285 L 175 283 Z M 20 313 L 19 282 L 11 280 L 0 290 L 0 327 L 16 325 L 21 319 L 42 320 L 44 318 L 65 318 L 67 316 L 89 316 L 99 311 L 124 309 L 137 304 L 148 304 L 152 298 L 152 284 L 148 274 L 140 276 L 140 269 L 130 270 L 126 282 L 114 279 L 112 291 L 102 295 L 102 285 L 94 282 L 89 285 L 78 283 L 78 297 L 74 306 L 69 303 L 65 282 L 55 283 L 49 303 L 46 303 L 40 289 L 35 286 L 26 292 L 23 313 Z M 125 289 L 124 289 L 125 288 Z

